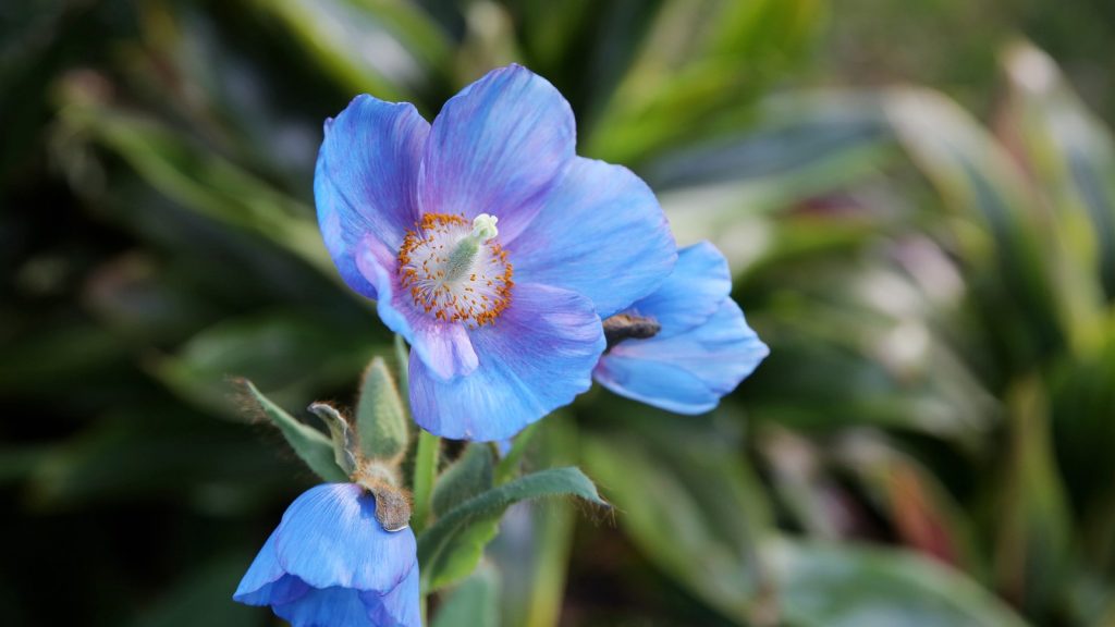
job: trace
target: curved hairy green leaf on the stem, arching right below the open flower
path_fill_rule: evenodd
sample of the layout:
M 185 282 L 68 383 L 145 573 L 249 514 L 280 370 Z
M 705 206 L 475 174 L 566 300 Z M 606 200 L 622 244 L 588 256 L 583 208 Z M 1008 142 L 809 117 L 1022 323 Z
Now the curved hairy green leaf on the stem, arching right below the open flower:
M 468 575 L 508 507 L 559 495 L 608 507 L 592 481 L 572 466 L 544 470 L 488 490 L 450 510 L 418 538 L 423 588 L 435 590 Z

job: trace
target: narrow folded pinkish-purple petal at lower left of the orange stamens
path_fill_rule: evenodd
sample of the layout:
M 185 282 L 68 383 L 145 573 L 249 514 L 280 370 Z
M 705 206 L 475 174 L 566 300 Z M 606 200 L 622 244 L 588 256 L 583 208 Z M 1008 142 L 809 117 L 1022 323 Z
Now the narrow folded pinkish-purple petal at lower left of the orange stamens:
M 476 353 L 464 325 L 437 320 L 415 307 L 399 284 L 395 257 L 382 242 L 366 238 L 359 245 L 357 266 L 379 292 L 379 318 L 403 336 L 439 378 L 450 379 L 476 369 Z

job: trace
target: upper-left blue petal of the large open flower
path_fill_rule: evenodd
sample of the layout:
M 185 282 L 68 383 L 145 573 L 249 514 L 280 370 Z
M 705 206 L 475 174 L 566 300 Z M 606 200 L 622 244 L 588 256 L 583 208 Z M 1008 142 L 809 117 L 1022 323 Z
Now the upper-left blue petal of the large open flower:
M 398 249 L 418 218 L 415 193 L 429 124 L 409 104 L 357 96 L 326 122 L 313 195 L 329 254 L 348 284 L 376 298 L 372 279 L 353 260 L 372 235 Z

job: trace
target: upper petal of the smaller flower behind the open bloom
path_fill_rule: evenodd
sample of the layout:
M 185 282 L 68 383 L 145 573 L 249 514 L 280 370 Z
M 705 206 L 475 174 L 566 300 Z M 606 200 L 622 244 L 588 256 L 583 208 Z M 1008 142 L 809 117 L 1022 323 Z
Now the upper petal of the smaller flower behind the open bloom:
M 704 322 L 730 292 L 728 261 L 712 244 L 699 242 L 678 251 L 673 272 L 629 311 L 657 320 L 662 330 L 656 337 L 662 339 Z

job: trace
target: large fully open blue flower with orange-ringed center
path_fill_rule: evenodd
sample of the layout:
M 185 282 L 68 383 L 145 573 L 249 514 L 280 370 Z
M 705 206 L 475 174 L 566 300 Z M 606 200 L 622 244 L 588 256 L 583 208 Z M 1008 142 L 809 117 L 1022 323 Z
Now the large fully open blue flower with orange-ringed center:
M 370 96 L 326 123 L 326 245 L 410 344 L 415 421 L 437 435 L 502 440 L 570 403 L 604 349 L 600 317 L 669 274 L 653 193 L 574 143 L 569 104 L 520 66 L 463 89 L 433 125 Z

